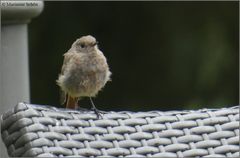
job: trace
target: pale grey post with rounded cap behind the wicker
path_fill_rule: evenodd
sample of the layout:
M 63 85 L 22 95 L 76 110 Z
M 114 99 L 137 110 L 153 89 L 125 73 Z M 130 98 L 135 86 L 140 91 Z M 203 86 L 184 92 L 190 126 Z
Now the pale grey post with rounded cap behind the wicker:
M 1 1 L 0 115 L 18 102 L 30 102 L 27 24 L 43 1 Z M 0 141 L 0 157 L 8 157 Z

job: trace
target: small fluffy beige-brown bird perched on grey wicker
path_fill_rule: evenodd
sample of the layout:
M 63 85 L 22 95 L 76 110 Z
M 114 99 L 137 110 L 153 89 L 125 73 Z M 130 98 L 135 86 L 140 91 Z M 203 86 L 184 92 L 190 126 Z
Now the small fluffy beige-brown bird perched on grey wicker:
M 98 48 L 98 42 L 91 35 L 76 39 L 64 53 L 61 73 L 56 80 L 62 92 L 67 109 L 77 109 L 78 100 L 89 97 L 92 110 L 99 116 L 99 110 L 92 101 L 98 92 L 111 81 L 107 59 Z

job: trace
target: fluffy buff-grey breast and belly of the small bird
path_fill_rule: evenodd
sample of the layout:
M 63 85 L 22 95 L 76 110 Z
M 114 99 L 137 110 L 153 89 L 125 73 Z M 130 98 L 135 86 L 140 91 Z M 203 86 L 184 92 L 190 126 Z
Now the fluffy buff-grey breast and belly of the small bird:
M 66 71 L 65 85 L 79 96 L 94 96 L 110 76 L 106 59 L 101 54 L 75 57 Z

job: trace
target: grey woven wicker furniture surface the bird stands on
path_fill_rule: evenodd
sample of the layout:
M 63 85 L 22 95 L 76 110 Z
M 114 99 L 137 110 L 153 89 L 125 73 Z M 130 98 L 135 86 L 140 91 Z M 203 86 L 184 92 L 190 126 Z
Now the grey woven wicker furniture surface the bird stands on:
M 16 157 L 239 157 L 239 107 L 198 111 L 69 111 L 19 103 L 1 117 Z

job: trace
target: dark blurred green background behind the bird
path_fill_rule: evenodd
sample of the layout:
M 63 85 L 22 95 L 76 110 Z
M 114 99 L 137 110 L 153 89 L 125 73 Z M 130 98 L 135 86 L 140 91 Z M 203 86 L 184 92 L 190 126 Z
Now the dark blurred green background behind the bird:
M 31 101 L 59 104 L 63 53 L 91 34 L 113 73 L 95 104 L 149 111 L 238 104 L 239 2 L 45 2 L 29 25 Z M 87 98 L 80 101 L 89 108 Z

